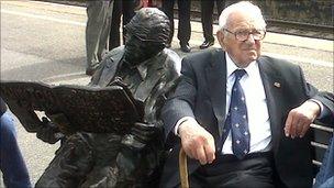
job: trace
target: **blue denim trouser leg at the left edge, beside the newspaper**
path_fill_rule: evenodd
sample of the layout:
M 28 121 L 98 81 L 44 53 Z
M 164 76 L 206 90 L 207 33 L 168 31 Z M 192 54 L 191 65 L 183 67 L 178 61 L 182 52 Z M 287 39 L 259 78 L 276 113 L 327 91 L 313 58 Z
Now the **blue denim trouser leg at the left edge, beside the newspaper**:
M 5 112 L 0 124 L 0 169 L 4 185 L 9 188 L 31 187 L 29 173 L 16 141 L 12 117 Z

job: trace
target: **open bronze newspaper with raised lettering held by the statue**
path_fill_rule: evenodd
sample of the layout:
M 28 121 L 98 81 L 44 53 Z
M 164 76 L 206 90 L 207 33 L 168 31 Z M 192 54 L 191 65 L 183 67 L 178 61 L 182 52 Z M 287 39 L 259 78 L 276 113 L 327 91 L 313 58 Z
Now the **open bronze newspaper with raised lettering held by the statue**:
M 20 107 L 45 114 L 64 114 L 68 123 L 62 124 L 65 128 L 59 130 L 66 132 L 126 134 L 134 122 L 143 119 L 143 104 L 119 81 L 102 88 L 1 81 L 0 93 L 11 110 Z

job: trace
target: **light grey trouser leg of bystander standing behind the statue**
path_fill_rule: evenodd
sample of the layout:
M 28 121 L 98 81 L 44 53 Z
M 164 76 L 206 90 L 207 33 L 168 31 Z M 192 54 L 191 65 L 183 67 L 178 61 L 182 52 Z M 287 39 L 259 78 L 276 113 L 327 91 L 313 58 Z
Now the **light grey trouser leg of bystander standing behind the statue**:
M 108 49 L 113 0 L 87 1 L 87 68 L 97 68 Z

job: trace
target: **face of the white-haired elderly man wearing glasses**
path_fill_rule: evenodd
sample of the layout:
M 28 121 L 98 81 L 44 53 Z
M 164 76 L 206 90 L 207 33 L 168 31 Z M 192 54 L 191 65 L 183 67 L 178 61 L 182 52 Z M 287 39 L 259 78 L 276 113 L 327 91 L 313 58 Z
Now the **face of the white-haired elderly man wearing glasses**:
M 248 34 L 264 30 L 259 21 L 248 14 L 234 12 L 230 14 L 225 29 L 227 31 L 218 32 L 219 42 L 238 67 L 247 67 L 260 56 L 261 41 L 255 40 L 254 34 Z M 247 37 L 240 41 L 235 33 L 246 33 Z

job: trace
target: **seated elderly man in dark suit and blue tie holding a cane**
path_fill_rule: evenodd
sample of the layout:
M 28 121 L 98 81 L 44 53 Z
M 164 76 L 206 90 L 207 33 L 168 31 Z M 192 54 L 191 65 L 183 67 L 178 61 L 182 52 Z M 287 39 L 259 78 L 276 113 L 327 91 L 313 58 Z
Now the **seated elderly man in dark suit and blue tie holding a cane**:
M 311 187 L 310 132 L 334 111 L 299 66 L 260 56 L 266 23 L 242 1 L 220 15 L 211 49 L 182 59 L 181 79 L 162 111 L 170 146 L 162 187 L 178 187 L 178 152 L 190 187 Z

